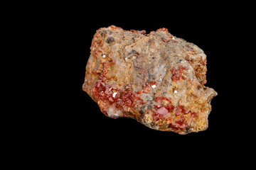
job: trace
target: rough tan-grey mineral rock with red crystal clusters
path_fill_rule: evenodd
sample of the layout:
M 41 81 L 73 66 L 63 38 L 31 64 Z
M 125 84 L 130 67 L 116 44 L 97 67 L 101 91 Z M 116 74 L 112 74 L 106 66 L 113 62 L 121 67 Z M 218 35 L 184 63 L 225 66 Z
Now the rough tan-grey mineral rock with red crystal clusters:
M 134 118 L 155 130 L 187 134 L 208 128 L 206 55 L 166 28 L 100 28 L 94 35 L 82 89 L 110 118 Z

